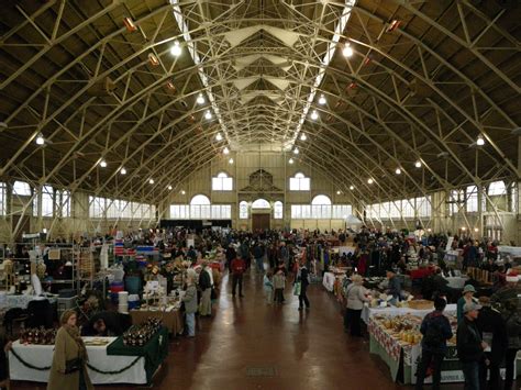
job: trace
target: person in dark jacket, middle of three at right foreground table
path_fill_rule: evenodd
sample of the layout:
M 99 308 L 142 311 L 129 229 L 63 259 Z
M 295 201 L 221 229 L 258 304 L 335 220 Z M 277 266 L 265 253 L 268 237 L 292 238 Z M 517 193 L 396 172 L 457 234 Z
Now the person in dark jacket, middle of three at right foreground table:
M 488 348 L 476 326 L 479 309 L 474 302 L 465 303 L 464 317 L 457 325 L 456 348 L 465 377 L 465 389 L 479 389 L 479 366 L 484 359 L 484 350 Z

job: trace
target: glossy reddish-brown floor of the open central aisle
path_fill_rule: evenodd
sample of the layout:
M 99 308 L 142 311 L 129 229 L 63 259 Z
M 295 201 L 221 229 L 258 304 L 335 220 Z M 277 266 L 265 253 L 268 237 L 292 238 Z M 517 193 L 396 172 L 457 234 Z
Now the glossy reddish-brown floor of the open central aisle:
M 228 276 L 213 319 L 202 319 L 195 338 L 170 343 L 154 389 L 406 389 L 368 352 L 366 339 L 343 332 L 339 303 L 322 286 L 309 288 L 311 310 L 299 312 L 286 289 L 286 304 L 267 305 L 262 279 L 248 275 L 245 298 L 232 298 Z M 44 389 L 13 383 L 12 389 Z M 131 386 L 97 387 L 129 389 Z M 426 387 L 429 388 L 429 387 Z M 463 386 L 442 386 L 462 389 Z

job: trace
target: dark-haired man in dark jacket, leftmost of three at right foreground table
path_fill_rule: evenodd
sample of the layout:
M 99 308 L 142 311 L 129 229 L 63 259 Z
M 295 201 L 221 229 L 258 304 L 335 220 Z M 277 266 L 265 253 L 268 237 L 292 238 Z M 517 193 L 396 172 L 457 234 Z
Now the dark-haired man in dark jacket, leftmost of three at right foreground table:
M 426 369 L 433 365 L 432 388 L 440 389 L 442 361 L 447 352 L 447 339 L 452 338 L 451 323 L 443 315 L 446 301 L 437 297 L 434 300 L 434 311 L 425 315 L 421 323 L 420 332 L 423 335 L 421 361 L 417 372 L 415 389 L 423 389 Z

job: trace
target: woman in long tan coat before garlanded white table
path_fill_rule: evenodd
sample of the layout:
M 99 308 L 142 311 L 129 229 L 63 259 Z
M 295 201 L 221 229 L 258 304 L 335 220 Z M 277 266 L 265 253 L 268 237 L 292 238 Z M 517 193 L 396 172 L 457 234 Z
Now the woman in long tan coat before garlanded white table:
M 76 326 L 76 312 L 65 311 L 60 323 L 47 390 L 93 389 L 87 372 L 87 349 Z

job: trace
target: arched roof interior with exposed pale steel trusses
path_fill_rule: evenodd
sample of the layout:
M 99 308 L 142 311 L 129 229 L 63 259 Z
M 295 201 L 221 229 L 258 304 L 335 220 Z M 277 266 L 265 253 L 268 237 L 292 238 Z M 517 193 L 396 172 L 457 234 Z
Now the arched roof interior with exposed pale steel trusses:
M 156 202 L 226 146 L 298 147 L 367 200 L 512 181 L 519 20 L 514 1 L 8 2 L 0 178 Z

